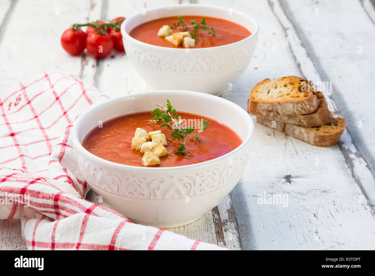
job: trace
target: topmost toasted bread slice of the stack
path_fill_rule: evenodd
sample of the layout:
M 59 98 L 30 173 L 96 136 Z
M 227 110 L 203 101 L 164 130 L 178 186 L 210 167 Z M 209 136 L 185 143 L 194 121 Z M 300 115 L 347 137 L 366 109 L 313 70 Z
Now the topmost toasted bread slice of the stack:
M 250 92 L 249 112 L 254 115 L 279 116 L 309 114 L 319 106 L 314 87 L 304 78 L 289 76 L 256 84 Z

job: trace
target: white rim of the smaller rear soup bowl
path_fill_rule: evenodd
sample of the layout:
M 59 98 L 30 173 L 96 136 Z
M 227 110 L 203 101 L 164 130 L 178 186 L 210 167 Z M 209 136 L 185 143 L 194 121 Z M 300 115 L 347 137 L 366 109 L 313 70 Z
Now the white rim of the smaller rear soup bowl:
M 153 8 L 153 9 L 149 9 L 147 11 L 157 11 L 157 10 L 162 10 L 162 9 L 168 9 L 168 8 L 183 8 L 183 7 L 204 7 L 204 8 L 214 8 L 214 9 L 220 9 L 220 10 L 225 10 L 227 11 L 229 8 L 226 8 L 226 7 L 222 7 L 222 6 L 215 6 L 215 5 L 201 5 L 201 4 L 180 4 L 180 5 L 168 5 L 168 6 L 162 6 L 162 7 L 159 7 L 159 8 Z M 225 44 L 225 45 L 221 45 L 221 46 L 215 46 L 215 47 L 205 47 L 205 48 L 189 48 L 189 51 L 194 51 L 194 52 L 199 52 L 199 51 L 208 51 L 208 50 L 216 50 L 216 49 L 221 49 L 221 48 L 224 48 L 224 47 L 229 47 L 229 46 L 233 46 L 233 45 L 236 45 L 236 44 L 240 44 L 242 42 L 245 42 L 249 39 L 253 39 L 254 37 L 257 36 L 258 32 L 259 32 L 259 24 L 258 22 L 251 16 L 243 13 L 243 12 L 240 12 L 240 11 L 237 11 L 237 10 L 233 10 L 234 12 L 242 15 L 243 17 L 246 17 L 248 18 L 250 21 L 252 21 L 252 23 L 254 24 L 255 26 L 255 32 L 254 33 L 251 33 L 251 35 L 249 35 L 248 37 L 244 38 L 244 39 L 241 39 L 240 41 L 237 41 L 237 42 L 233 42 L 233 43 L 229 43 L 229 44 Z M 163 46 L 157 46 L 157 45 L 153 45 L 153 44 L 148 44 L 148 43 L 145 43 L 145 42 L 142 42 L 142 41 L 139 41 L 133 37 L 131 37 L 126 31 L 125 31 L 125 27 L 126 25 L 132 20 L 133 17 L 136 17 L 137 15 L 139 14 L 142 14 L 142 12 L 138 12 L 137 14 L 133 14 L 131 15 L 130 17 L 127 17 L 123 24 L 121 24 L 121 35 L 124 37 L 126 37 L 126 39 L 129 39 L 130 41 L 132 41 L 133 43 L 137 43 L 137 44 L 140 44 L 142 45 L 143 47 L 146 47 L 146 48 L 150 48 L 150 50 L 155 50 L 156 49 L 169 49 L 171 51 L 185 51 L 186 49 L 185 48 L 170 48 L 170 47 L 163 47 Z M 147 22 L 147 21 L 146 21 Z M 250 31 L 249 31 L 250 32 Z

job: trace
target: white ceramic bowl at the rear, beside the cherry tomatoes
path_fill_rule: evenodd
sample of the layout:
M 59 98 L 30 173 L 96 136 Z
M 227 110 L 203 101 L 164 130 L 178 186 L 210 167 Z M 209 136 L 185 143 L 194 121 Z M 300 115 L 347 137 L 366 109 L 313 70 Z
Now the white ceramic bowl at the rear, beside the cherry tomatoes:
M 241 41 L 210 48 L 167 48 L 138 41 L 130 30 L 162 17 L 201 15 L 223 18 L 247 28 L 252 35 Z M 121 25 L 126 55 L 153 89 L 191 90 L 220 95 L 249 65 L 258 40 L 259 26 L 252 17 L 229 8 L 173 5 L 150 9 L 126 18 Z M 157 34 L 155 34 L 157 35 Z

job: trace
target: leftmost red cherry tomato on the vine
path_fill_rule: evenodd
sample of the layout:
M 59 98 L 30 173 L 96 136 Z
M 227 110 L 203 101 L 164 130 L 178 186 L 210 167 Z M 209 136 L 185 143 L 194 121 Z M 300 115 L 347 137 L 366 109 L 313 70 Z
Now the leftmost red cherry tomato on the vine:
M 83 30 L 73 30 L 69 28 L 65 30 L 61 36 L 61 45 L 66 52 L 77 55 L 85 50 L 86 33 Z

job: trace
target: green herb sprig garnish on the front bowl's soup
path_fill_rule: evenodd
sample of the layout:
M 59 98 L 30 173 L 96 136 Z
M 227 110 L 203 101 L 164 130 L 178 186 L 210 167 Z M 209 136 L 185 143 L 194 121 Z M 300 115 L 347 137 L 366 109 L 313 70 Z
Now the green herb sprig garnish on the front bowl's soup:
M 199 135 L 203 130 L 205 130 L 211 122 L 208 122 L 206 119 L 202 118 L 199 120 L 199 131 L 198 134 L 191 134 L 194 130 L 195 127 L 187 127 L 183 128 L 181 127 L 182 119 L 180 116 L 178 116 L 177 111 L 173 108 L 171 105 L 171 102 L 169 100 L 166 101 L 166 105 L 161 105 L 157 104 L 157 106 L 161 107 L 161 109 L 157 108 L 154 109 L 151 114 L 154 115 L 155 117 L 152 118 L 151 120 L 153 121 L 158 121 L 158 122 L 163 122 L 163 124 L 160 125 L 160 127 L 168 127 L 170 130 L 172 129 L 171 123 L 173 127 L 173 132 L 171 133 L 172 137 L 175 138 L 181 138 L 183 140 L 183 143 L 177 143 L 179 145 L 177 151 L 174 153 L 181 153 L 187 156 L 190 156 L 185 147 L 186 139 L 188 134 L 190 134 L 195 142 L 202 142 L 201 139 L 199 139 Z

